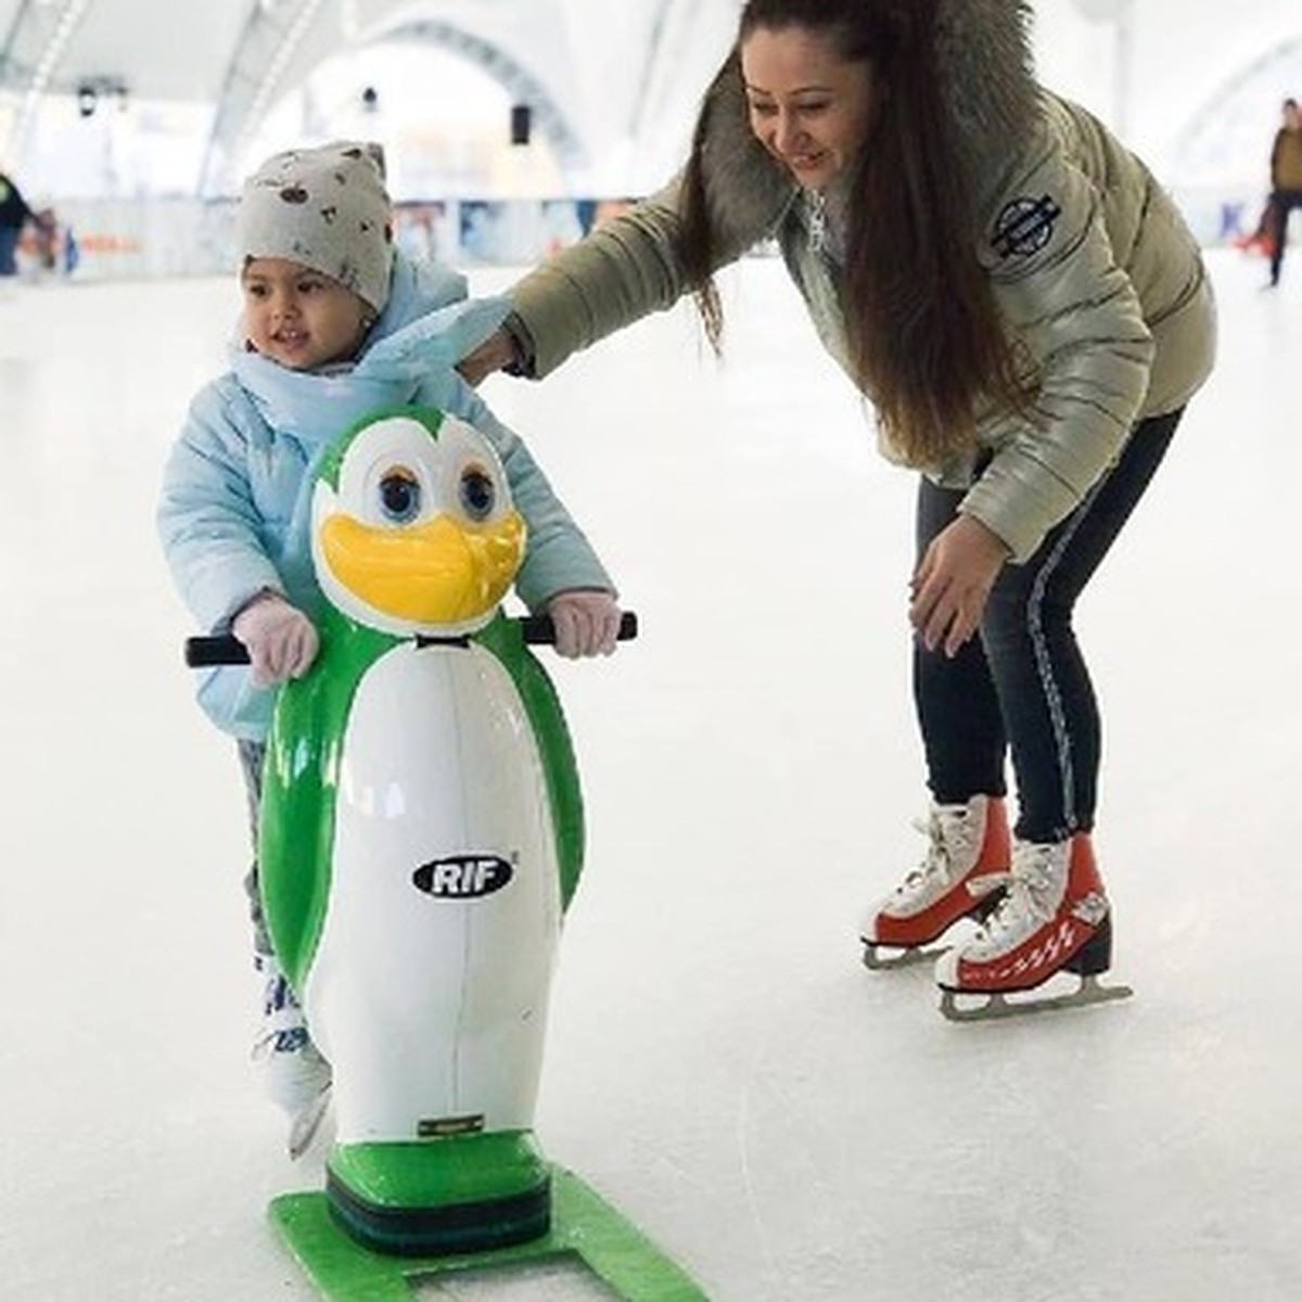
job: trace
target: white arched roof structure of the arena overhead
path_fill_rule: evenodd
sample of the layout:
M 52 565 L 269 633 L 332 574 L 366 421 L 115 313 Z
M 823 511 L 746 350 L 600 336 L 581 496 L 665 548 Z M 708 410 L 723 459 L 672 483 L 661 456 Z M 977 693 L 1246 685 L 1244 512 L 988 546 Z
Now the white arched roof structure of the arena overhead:
M 208 105 L 197 193 L 229 190 L 277 99 L 331 56 L 436 47 L 527 105 L 562 172 L 624 160 L 628 184 L 681 152 L 740 0 L 0 0 L 0 163 L 30 164 L 51 96 Z M 1042 77 L 1120 126 L 1159 171 L 1260 168 L 1302 92 L 1297 0 L 1039 0 Z M 431 87 L 430 113 L 441 111 Z M 1264 121 L 1263 121 L 1264 120 Z

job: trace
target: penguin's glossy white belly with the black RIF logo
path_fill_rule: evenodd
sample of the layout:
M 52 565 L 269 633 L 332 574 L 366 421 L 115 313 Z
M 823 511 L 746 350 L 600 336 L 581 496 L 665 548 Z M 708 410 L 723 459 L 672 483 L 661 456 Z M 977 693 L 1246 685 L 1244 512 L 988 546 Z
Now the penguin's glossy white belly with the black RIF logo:
M 309 1023 L 342 1143 L 533 1125 L 560 927 L 538 742 L 477 647 L 402 644 L 341 738 Z

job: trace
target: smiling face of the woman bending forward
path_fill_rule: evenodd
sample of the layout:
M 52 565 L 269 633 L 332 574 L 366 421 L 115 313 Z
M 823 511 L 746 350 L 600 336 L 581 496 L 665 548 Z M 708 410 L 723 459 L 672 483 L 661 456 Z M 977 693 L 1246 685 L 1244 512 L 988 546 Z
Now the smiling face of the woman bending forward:
M 872 74 L 850 62 L 831 33 L 758 27 L 741 44 L 750 129 L 809 190 L 823 190 L 853 163 L 868 129 Z

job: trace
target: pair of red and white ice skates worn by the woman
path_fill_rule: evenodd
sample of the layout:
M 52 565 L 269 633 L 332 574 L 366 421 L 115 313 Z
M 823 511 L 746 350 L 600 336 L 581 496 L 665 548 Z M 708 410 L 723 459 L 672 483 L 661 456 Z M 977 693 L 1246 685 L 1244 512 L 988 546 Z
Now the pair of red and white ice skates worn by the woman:
M 1021 841 L 996 796 L 934 803 L 917 825 L 927 836 L 924 857 L 867 911 L 865 966 L 935 960 L 940 1010 L 960 1022 L 1133 993 L 1099 979 L 1112 963 L 1112 910 L 1088 833 Z M 1072 976 L 1074 988 L 1060 992 Z

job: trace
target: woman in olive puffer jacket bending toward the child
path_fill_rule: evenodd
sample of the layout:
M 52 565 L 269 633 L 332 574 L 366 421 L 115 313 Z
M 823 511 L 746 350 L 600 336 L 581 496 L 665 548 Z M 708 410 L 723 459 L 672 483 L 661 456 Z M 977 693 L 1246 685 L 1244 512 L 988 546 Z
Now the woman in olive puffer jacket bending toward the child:
M 976 914 L 936 975 L 990 995 L 1109 966 L 1099 713 L 1072 609 L 1215 332 L 1180 215 L 1036 85 L 1027 21 L 1018 0 L 750 0 L 681 177 L 526 277 L 464 363 L 542 376 L 689 292 L 717 346 L 712 272 L 776 238 L 883 450 L 921 471 L 909 617 L 930 849 L 870 910 L 866 958 Z

